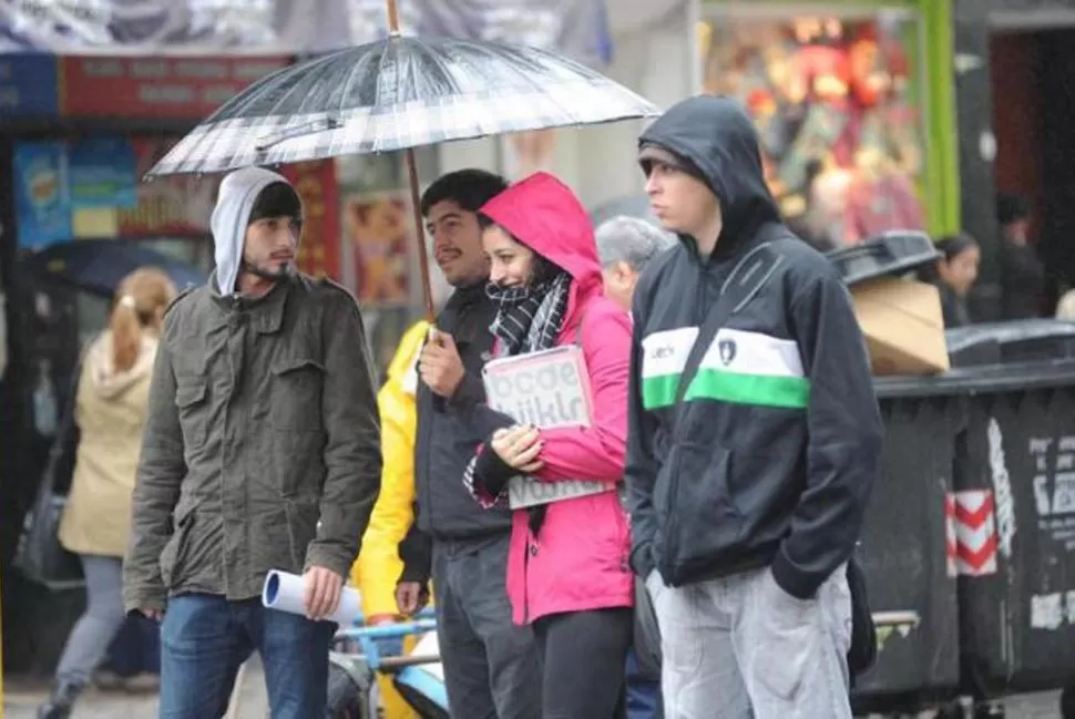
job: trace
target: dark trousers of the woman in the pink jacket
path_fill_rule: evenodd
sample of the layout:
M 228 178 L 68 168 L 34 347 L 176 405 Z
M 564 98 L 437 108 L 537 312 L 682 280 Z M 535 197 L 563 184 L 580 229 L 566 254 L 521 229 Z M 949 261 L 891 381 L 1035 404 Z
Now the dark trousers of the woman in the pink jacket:
M 629 608 L 554 614 L 534 625 L 544 719 L 624 719 Z

